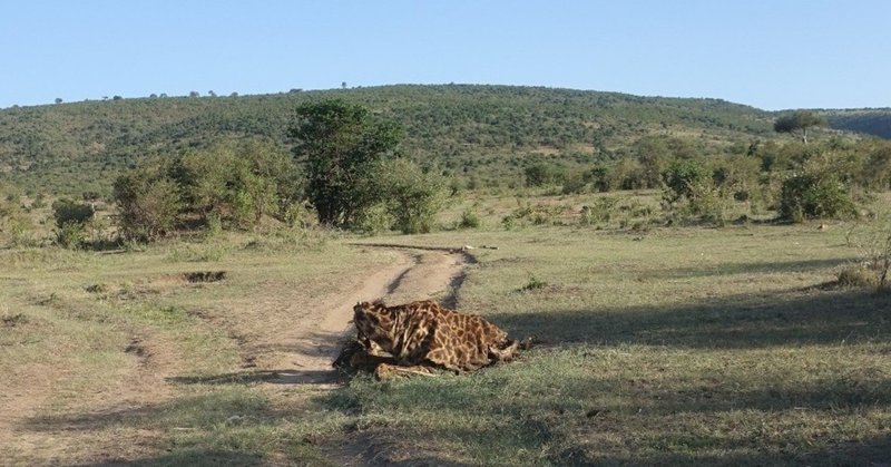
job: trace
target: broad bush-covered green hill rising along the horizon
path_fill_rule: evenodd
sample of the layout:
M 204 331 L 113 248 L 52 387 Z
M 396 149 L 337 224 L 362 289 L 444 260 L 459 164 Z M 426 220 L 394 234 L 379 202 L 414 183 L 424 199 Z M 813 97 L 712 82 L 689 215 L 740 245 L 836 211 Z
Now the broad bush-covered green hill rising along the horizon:
M 639 97 L 540 87 L 398 85 L 229 97 L 82 101 L 0 110 L 0 176 L 35 192 L 107 193 L 114 177 L 153 154 L 227 137 L 288 145 L 301 103 L 339 97 L 407 130 L 411 157 L 498 184 L 529 158 L 566 164 L 623 157 L 647 135 L 681 136 L 721 153 L 773 138 L 774 114 L 719 99 Z M 854 127 L 856 118 L 834 119 Z M 0 179 L 2 179 L 0 178 Z

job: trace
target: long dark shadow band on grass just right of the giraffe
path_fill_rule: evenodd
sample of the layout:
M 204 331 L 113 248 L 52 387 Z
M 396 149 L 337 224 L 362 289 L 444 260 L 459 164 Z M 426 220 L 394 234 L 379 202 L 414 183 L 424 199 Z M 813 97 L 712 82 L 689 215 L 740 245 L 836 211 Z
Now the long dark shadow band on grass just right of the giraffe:
M 487 315 L 511 335 L 585 342 L 755 349 L 891 340 L 891 294 L 789 291 L 667 307 Z

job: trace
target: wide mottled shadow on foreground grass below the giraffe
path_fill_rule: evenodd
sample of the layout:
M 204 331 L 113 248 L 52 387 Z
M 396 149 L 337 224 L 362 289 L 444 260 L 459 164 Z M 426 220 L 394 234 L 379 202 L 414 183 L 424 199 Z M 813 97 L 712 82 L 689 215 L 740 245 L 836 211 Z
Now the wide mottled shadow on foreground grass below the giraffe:
M 792 391 L 748 381 L 743 391 L 699 391 L 692 385 L 673 392 L 595 371 L 558 369 L 548 378 L 540 373 L 548 364 L 531 361 L 467 377 L 360 383 L 326 396 L 323 403 L 371 420 L 346 442 L 361 437 L 385 465 L 424 465 L 450 446 L 461 448 L 434 465 L 454 463 L 456 456 L 482 465 L 512 459 L 515 465 L 678 466 L 875 465 L 891 458 L 888 436 L 860 438 L 842 428 L 845 419 L 891 406 L 888 380 L 864 387 L 840 377 Z M 562 364 L 562 370 L 584 366 L 580 360 Z M 687 378 L 675 382 L 689 383 Z M 733 388 L 741 381 L 724 382 Z M 388 421 L 393 414 L 403 415 Z M 814 432 L 801 426 L 816 429 L 826 422 L 836 428 Z M 446 445 L 418 442 L 430 439 Z M 519 453 L 526 457 L 515 458 Z

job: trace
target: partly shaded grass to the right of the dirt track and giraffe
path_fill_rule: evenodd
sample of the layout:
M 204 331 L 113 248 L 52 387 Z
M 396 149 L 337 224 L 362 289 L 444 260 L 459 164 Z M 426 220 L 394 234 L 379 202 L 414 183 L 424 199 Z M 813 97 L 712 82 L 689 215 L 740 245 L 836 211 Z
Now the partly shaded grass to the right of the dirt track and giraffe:
M 891 298 L 825 284 L 843 228 L 462 232 L 459 308 L 542 342 L 470 377 L 332 396 L 392 459 L 862 465 L 891 454 Z M 398 239 L 388 239 L 388 241 Z M 454 244 L 452 234 L 412 239 Z M 547 286 L 529 289 L 530 276 Z M 405 439 L 405 434 L 412 434 Z

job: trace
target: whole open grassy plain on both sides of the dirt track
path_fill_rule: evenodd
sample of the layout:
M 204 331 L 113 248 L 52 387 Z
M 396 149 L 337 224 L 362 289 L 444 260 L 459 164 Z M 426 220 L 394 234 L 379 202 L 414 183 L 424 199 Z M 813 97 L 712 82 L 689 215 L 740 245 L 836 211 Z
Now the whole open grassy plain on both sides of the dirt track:
M 457 203 L 444 224 L 473 210 L 482 227 L 429 235 L 0 251 L 0 464 L 891 458 L 891 295 L 834 284 L 862 257 L 851 224 L 666 227 L 652 202 L 593 224 L 593 197 L 506 197 Z M 476 246 L 458 309 L 539 344 L 468 376 L 278 378 L 298 370 L 274 367 L 300 351 L 275 347 L 288 320 L 395 261 L 355 242 Z

